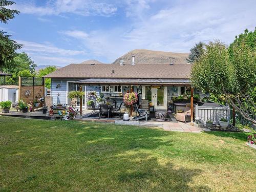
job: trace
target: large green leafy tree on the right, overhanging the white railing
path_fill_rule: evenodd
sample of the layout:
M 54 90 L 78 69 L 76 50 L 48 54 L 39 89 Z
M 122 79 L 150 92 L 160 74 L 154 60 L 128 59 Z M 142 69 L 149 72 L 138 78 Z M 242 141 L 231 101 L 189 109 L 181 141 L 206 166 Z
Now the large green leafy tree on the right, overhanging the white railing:
M 248 45 L 248 33 L 240 36 L 230 49 L 218 40 L 205 45 L 204 54 L 192 66 L 191 81 L 204 92 L 222 94 L 245 119 L 256 124 L 253 99 L 256 87 L 255 46 Z

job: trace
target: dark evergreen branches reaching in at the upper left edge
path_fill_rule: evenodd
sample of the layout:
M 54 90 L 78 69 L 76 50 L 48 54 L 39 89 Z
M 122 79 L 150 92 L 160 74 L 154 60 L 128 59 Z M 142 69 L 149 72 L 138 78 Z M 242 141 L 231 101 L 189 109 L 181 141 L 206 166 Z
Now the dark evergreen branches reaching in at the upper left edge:
M 11 1 L 0 0 L 0 22 L 7 24 L 8 20 L 13 19 L 15 14 L 19 11 L 13 9 L 7 9 L 7 6 L 15 4 Z M 10 63 L 16 54 L 16 50 L 22 48 L 22 45 L 17 44 L 16 41 L 10 39 L 11 35 L 6 34 L 4 31 L 0 31 L 0 70 L 10 68 Z

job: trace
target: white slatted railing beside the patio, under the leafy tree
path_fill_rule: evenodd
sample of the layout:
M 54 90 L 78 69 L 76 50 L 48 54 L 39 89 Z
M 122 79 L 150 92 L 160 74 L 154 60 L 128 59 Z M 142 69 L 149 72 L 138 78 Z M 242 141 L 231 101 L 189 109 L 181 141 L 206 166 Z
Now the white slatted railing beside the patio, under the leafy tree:
M 212 121 L 216 124 L 221 118 L 230 119 L 229 106 L 199 106 L 196 104 L 195 119 L 202 123 Z

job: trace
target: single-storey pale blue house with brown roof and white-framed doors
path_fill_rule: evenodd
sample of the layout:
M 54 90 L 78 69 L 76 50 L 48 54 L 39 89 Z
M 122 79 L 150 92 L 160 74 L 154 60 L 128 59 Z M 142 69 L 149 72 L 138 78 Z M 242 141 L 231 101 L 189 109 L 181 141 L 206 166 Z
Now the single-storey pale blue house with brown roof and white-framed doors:
M 51 96 L 53 103 L 69 103 L 68 92 L 86 91 L 82 99 L 82 106 L 87 108 L 92 92 L 98 97 L 108 96 L 110 99 L 122 102 L 122 96 L 127 90 L 139 93 L 140 99 L 148 99 L 155 110 L 166 110 L 168 103 L 177 96 L 190 95 L 191 83 L 189 81 L 191 64 L 167 63 L 148 64 L 132 63 L 104 64 L 79 63 L 70 64 L 48 75 L 51 78 Z M 204 94 L 195 90 L 196 94 Z M 78 102 L 79 105 L 79 102 Z

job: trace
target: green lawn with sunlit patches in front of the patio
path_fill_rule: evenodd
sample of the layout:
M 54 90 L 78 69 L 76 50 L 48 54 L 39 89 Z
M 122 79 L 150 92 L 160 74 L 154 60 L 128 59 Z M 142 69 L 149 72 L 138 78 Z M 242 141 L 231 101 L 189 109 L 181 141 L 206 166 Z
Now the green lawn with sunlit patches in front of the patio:
M 0 116 L 0 191 L 253 191 L 246 137 Z

